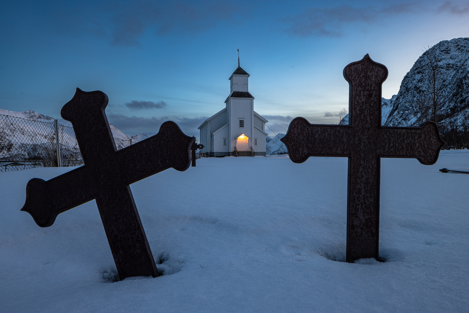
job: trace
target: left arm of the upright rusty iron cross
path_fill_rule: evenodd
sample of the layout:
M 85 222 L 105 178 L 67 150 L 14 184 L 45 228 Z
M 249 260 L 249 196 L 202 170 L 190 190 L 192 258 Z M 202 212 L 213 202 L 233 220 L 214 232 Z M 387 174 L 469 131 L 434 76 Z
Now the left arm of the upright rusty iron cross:
M 280 140 L 287 146 L 290 160 L 303 163 L 310 156 L 350 156 L 351 135 L 351 126 L 311 124 L 297 117 Z

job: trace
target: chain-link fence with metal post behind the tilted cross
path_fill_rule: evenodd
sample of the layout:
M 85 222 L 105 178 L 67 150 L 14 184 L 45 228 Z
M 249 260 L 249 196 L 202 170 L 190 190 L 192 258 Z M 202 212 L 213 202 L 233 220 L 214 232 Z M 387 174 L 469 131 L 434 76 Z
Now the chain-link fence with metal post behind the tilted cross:
M 83 165 L 73 128 L 57 125 L 61 166 Z M 132 139 L 114 138 L 118 150 Z M 55 122 L 0 115 L 0 172 L 58 166 Z

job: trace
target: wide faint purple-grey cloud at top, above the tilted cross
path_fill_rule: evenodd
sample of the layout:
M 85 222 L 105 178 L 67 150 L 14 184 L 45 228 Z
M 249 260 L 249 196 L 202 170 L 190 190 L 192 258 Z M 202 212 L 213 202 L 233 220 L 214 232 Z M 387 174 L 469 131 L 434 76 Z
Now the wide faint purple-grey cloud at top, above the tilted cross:
M 241 14 L 242 13 L 242 14 Z M 63 33 L 92 33 L 114 46 L 138 46 L 150 31 L 157 36 L 193 36 L 246 16 L 232 1 L 78 1 L 53 8 L 52 26 Z

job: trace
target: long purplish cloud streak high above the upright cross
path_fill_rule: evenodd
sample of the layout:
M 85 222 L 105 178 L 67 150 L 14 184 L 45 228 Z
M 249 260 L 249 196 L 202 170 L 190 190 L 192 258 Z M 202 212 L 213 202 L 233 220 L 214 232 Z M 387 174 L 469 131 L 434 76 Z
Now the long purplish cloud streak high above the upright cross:
M 352 7 L 341 5 L 336 8 L 309 8 L 304 13 L 283 20 L 290 24 L 286 32 L 300 37 L 340 37 L 345 25 L 353 23 L 375 23 L 383 18 L 414 12 L 416 3 L 393 4 L 385 8 Z

